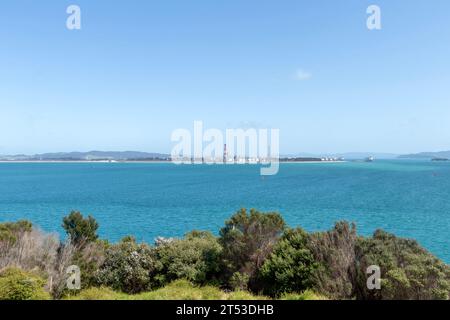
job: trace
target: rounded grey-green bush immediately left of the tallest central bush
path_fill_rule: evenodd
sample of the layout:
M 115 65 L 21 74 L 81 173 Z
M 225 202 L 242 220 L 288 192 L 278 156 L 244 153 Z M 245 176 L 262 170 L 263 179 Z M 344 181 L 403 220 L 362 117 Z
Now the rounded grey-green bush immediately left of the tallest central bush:
M 176 279 L 205 284 L 219 272 L 222 247 L 209 232 L 194 231 L 185 239 L 164 242 L 155 253 L 159 270 L 155 279 L 165 285 Z

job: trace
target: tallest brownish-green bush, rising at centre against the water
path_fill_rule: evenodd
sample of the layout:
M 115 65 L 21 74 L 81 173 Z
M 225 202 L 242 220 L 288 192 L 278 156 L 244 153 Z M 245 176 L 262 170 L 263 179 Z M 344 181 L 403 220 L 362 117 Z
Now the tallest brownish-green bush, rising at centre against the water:
M 258 290 L 256 271 L 263 265 L 272 247 L 283 233 L 285 222 L 278 213 L 250 214 L 241 209 L 225 222 L 220 230 L 225 276 L 230 280 L 235 272 L 249 277 L 249 287 Z

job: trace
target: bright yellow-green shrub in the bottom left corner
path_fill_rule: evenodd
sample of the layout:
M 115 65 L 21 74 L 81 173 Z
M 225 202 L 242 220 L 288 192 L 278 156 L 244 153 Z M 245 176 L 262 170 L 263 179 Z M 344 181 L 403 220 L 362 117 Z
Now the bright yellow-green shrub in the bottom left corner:
M 0 300 L 48 300 L 41 277 L 16 268 L 0 273 Z

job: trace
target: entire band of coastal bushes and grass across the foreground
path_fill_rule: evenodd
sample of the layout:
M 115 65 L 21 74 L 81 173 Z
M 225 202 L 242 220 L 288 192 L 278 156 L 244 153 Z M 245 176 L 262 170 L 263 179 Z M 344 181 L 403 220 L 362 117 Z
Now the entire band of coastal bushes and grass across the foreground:
M 153 245 L 99 239 L 96 220 L 72 212 L 61 242 L 31 222 L 0 224 L 0 300 L 23 299 L 449 299 L 450 267 L 416 241 L 378 230 L 358 236 L 289 228 L 275 212 L 241 209 L 219 236 L 192 231 Z M 66 286 L 69 266 L 81 289 Z M 367 267 L 381 289 L 367 288 Z

